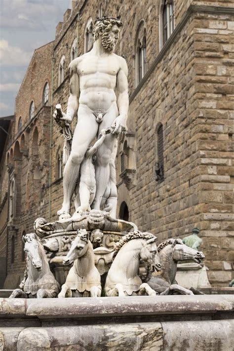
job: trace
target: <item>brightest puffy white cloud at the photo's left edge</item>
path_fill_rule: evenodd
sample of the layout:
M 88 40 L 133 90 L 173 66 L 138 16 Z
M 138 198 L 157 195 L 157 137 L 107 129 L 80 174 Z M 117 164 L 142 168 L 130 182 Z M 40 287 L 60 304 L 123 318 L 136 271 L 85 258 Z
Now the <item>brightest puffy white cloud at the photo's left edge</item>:
M 0 40 L 1 66 L 26 66 L 29 64 L 31 57 L 31 52 L 9 45 L 7 40 Z

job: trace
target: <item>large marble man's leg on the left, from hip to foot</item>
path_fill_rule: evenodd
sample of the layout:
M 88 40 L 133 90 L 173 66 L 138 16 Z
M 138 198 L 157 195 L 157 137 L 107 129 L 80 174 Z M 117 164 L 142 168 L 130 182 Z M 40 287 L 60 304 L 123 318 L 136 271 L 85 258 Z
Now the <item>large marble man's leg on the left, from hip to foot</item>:
M 72 195 L 78 182 L 79 166 L 89 144 L 94 140 L 97 130 L 98 124 L 91 110 L 84 105 L 80 105 L 78 108 L 78 123 L 73 135 L 71 154 L 64 168 L 64 199 L 62 208 L 58 211 L 59 215 L 62 215 L 64 212 L 70 213 Z

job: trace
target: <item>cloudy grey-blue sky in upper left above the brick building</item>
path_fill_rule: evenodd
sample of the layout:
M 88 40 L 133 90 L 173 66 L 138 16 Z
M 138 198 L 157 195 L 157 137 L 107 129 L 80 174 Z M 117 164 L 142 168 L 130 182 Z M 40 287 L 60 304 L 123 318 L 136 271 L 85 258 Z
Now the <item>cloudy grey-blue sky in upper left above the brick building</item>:
M 0 0 L 0 117 L 14 114 L 33 52 L 55 39 L 67 8 L 72 0 Z

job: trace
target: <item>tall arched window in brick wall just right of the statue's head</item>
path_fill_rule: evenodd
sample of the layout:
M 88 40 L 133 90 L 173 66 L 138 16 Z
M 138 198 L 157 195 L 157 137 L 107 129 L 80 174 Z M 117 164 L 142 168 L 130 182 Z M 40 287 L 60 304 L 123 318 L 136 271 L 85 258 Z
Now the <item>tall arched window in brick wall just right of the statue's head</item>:
M 139 84 L 141 79 L 145 76 L 147 71 L 147 59 L 146 59 L 146 29 L 145 22 L 142 20 L 137 30 L 136 40 L 136 86 Z

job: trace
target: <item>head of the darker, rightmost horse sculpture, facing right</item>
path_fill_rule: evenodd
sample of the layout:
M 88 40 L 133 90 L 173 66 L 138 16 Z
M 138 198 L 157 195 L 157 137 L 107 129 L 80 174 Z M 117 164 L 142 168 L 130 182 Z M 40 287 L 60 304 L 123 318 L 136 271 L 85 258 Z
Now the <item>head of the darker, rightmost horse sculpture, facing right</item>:
M 203 252 L 192 249 L 185 245 L 181 239 L 175 239 L 172 248 L 172 259 L 178 261 L 193 260 L 196 263 L 200 263 L 205 258 Z

